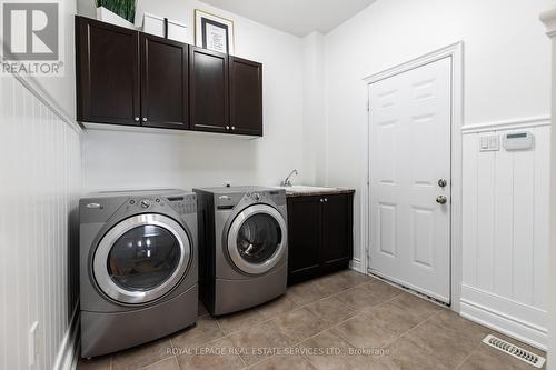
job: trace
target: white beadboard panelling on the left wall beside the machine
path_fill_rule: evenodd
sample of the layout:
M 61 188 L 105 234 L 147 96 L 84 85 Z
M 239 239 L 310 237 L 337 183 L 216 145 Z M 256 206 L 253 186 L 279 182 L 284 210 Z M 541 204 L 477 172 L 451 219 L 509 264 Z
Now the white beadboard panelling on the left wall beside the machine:
M 53 369 L 79 296 L 80 133 L 13 76 L 0 81 L 0 368 Z

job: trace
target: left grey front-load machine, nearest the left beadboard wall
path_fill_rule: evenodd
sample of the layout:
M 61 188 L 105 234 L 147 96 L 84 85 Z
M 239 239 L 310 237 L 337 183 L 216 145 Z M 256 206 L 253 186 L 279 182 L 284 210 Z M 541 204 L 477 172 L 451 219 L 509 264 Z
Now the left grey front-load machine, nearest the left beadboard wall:
M 180 190 L 91 194 L 79 202 L 81 356 L 192 326 L 197 199 Z

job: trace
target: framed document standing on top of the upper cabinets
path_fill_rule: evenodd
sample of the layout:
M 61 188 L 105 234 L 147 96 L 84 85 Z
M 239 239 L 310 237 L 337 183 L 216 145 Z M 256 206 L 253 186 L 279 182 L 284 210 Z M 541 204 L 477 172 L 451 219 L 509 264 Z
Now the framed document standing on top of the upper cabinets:
M 195 44 L 203 49 L 234 54 L 234 21 L 196 9 Z

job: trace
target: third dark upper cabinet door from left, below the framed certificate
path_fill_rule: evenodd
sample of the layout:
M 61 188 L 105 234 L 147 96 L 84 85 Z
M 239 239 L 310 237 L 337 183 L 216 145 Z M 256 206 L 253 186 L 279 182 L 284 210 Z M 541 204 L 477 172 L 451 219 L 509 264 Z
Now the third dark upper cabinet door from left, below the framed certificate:
M 197 47 L 189 50 L 191 129 L 229 132 L 228 57 Z

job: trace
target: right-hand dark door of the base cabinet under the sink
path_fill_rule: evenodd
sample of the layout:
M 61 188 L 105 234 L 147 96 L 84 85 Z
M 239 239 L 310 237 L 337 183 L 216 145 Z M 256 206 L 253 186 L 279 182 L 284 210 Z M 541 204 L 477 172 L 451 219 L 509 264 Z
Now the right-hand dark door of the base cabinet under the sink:
M 353 194 L 325 196 L 322 207 L 322 272 L 349 266 L 354 252 Z

